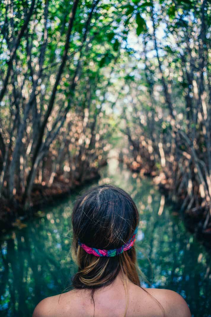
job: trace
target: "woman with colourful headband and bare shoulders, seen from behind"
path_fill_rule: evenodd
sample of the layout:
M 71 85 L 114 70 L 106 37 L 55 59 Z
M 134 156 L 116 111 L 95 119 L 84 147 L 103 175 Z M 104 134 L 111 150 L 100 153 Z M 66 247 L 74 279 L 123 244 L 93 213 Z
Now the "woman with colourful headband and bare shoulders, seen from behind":
M 139 213 L 121 188 L 91 188 L 72 213 L 73 290 L 48 297 L 33 317 L 190 317 L 183 298 L 166 289 L 142 288 L 136 267 Z

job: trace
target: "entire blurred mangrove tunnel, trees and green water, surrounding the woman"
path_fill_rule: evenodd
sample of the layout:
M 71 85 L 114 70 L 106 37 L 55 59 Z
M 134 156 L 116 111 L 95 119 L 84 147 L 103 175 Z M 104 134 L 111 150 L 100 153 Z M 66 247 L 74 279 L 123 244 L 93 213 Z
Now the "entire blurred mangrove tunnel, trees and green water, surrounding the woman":
M 0 315 L 71 287 L 78 195 L 138 206 L 144 287 L 211 317 L 211 5 L 0 1 Z

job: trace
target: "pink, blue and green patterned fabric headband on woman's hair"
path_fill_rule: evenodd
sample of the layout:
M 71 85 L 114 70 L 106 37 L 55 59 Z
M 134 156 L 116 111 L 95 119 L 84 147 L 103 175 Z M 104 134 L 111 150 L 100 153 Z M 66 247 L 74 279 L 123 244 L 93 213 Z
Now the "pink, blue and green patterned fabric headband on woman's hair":
M 135 236 L 138 231 L 138 226 L 136 227 L 135 231 L 133 232 L 133 236 L 129 239 L 129 241 L 125 244 L 123 244 L 118 249 L 113 250 L 105 250 L 105 249 L 95 249 L 88 247 L 84 243 L 81 243 L 80 240 L 78 240 L 78 244 L 81 246 L 81 248 L 84 249 L 86 253 L 93 254 L 94 256 L 117 256 L 118 254 L 121 254 L 123 251 L 129 250 L 132 248 L 134 242 L 135 242 Z

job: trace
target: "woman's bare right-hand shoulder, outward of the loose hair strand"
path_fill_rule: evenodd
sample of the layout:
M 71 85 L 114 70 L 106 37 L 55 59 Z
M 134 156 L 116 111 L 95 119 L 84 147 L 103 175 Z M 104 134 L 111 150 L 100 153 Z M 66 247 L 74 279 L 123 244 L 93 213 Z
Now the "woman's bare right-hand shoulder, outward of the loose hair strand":
M 166 317 L 191 317 L 183 297 L 170 289 L 144 288 L 164 308 Z

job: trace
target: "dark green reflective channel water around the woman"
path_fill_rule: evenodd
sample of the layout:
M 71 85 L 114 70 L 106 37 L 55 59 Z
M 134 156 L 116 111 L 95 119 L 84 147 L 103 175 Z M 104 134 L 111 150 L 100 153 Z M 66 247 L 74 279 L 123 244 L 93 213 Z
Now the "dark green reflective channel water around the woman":
M 166 205 L 162 210 L 164 197 L 151 180 L 134 178 L 114 161 L 101 172 L 100 184 L 122 187 L 140 210 L 136 245 L 142 252 L 138 250 L 138 262 L 152 287 L 181 294 L 192 316 L 211 316 L 211 256 L 186 231 L 177 210 Z M 43 208 L 33 221 L 20 224 L 1 238 L 1 317 L 31 316 L 40 300 L 68 287 L 76 272 L 69 253 L 70 216 L 76 197 L 74 194 Z

